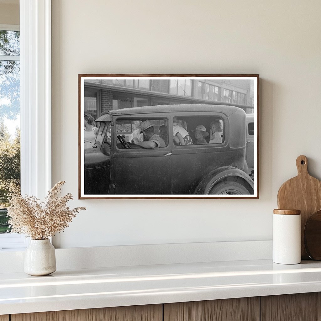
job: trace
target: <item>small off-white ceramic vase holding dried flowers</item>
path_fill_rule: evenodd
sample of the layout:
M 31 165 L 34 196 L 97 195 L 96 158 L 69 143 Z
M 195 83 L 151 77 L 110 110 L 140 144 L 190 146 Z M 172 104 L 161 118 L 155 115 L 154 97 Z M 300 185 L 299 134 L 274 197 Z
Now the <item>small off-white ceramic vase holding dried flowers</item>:
M 49 239 L 30 240 L 25 251 L 23 271 L 34 276 L 48 275 L 56 271 L 55 248 Z

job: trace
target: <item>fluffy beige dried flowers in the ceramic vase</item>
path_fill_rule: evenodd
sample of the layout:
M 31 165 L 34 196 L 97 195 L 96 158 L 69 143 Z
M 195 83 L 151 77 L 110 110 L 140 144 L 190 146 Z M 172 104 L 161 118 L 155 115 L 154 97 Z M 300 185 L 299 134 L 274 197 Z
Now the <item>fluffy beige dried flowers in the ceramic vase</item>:
M 39 202 L 34 196 L 22 197 L 12 194 L 8 207 L 9 223 L 12 233 L 27 234 L 34 240 L 48 239 L 56 232 L 64 230 L 76 214 L 86 207 L 70 209 L 68 201 L 73 199 L 71 194 L 58 196 L 65 181 L 59 181 L 48 191 L 45 202 Z

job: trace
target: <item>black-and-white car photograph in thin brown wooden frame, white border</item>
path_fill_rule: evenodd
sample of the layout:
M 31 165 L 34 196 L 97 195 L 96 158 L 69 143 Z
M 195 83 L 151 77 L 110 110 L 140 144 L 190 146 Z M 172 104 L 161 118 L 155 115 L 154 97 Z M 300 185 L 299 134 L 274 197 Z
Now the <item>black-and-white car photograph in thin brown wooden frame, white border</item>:
M 79 199 L 258 198 L 259 75 L 79 74 Z

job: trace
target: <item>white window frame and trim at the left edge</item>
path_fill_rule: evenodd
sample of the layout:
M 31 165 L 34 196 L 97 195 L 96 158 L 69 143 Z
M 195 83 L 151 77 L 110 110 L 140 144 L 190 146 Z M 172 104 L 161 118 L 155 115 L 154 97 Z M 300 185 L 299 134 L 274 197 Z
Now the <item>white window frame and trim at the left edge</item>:
M 51 188 L 51 0 L 20 0 L 21 193 L 44 199 Z M 5 29 L 2 29 L 5 30 Z M 0 234 L 0 250 L 29 238 Z

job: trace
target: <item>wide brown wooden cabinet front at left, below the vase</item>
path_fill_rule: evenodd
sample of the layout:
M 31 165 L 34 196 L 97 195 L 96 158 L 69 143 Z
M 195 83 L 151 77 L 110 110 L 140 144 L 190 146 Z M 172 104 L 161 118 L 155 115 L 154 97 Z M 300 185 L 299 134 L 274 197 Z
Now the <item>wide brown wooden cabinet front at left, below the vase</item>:
M 1 320 L 1 319 L 0 319 Z M 8 319 L 9 320 L 9 319 Z M 117 308 L 98 308 L 12 314 L 11 321 L 162 321 L 163 306 L 138 305 Z M 2 321 L 2 320 L 1 320 Z M 7 321 L 7 320 L 4 320 Z

